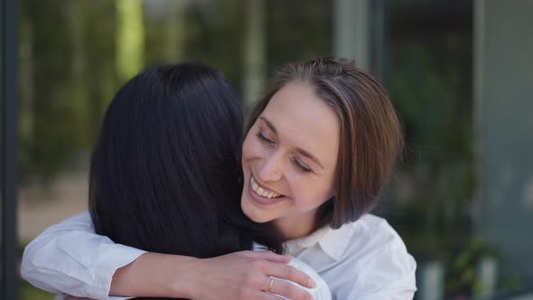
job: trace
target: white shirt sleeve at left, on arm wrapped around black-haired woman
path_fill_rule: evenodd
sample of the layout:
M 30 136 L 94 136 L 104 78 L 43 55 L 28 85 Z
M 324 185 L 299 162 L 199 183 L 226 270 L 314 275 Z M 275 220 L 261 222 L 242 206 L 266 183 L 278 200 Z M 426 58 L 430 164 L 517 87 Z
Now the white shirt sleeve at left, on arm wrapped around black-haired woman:
M 96 234 L 84 211 L 44 230 L 24 248 L 21 275 L 51 293 L 108 300 L 117 268 L 143 253 Z

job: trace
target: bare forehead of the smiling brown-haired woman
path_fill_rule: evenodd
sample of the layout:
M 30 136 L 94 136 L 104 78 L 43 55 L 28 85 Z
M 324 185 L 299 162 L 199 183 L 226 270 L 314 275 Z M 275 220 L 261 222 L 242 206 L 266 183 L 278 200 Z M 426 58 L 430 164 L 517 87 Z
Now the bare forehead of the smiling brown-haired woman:
M 287 84 L 276 92 L 261 115 L 276 127 L 280 144 L 302 148 L 323 163 L 336 162 L 339 119 L 310 85 Z

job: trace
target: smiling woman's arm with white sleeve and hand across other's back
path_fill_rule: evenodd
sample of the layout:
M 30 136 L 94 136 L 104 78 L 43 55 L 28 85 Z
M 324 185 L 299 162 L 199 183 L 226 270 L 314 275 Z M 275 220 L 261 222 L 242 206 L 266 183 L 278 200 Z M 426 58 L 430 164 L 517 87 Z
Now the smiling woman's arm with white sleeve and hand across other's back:
M 259 299 L 266 295 L 265 273 L 283 277 L 288 261 L 270 252 L 242 251 L 203 259 L 145 252 L 96 234 L 85 211 L 34 239 L 24 250 L 21 273 L 49 292 L 92 299 L 109 295 Z M 308 285 L 308 277 L 300 273 L 291 272 L 287 279 Z

